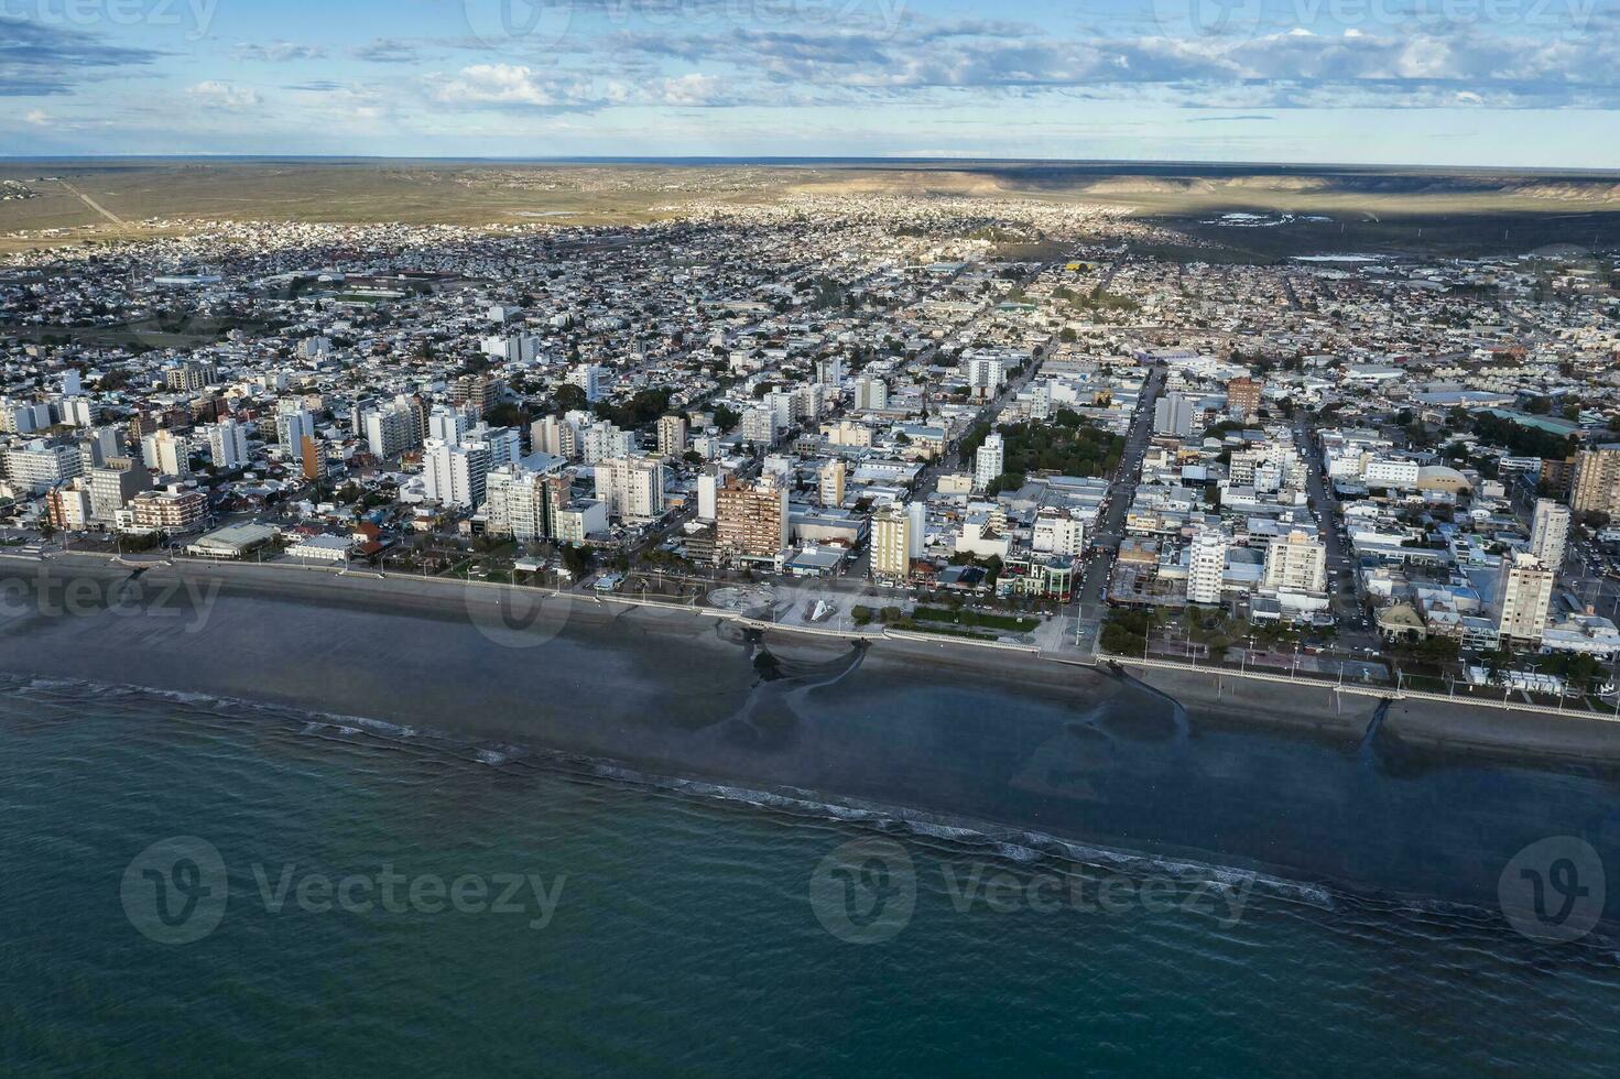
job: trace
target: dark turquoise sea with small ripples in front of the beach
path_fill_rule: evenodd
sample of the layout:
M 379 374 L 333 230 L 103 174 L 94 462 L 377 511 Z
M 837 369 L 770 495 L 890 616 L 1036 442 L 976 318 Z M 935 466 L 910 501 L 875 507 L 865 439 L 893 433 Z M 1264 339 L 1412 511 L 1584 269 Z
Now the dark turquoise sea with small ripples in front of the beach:
M 1602 932 L 1534 941 L 1471 904 L 237 702 L 3 689 L 6 1076 L 1615 1068 L 1620 961 Z M 1411 784 L 1455 779 L 1374 783 L 1421 804 Z M 178 838 L 217 852 L 224 880 L 143 865 Z M 1354 821 L 1327 841 L 1356 844 Z M 397 909 L 381 904 L 389 873 Z M 217 925 L 164 940 L 186 927 L 143 907 L 159 881 L 167 915 L 222 883 L 198 907 Z M 332 894 L 343 881 L 353 909 Z

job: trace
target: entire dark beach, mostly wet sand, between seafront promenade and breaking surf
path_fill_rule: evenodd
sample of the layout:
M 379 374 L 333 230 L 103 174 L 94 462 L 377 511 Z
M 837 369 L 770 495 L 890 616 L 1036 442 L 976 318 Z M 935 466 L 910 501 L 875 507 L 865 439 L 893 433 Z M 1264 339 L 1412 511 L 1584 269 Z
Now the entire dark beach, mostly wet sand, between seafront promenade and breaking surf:
M 1369 737 L 1379 698 L 1345 695 L 1340 710 L 1314 685 L 1252 682 L 1234 697 L 1204 674 L 1137 679 L 590 599 L 514 621 L 525 612 L 507 593 L 525 590 L 442 580 L 397 588 L 240 567 L 131 578 L 105 562 L 47 572 L 83 582 L 100 606 L 19 611 L 11 582 L 34 577 L 0 562 L 0 671 L 21 679 L 202 695 L 227 713 L 243 702 L 377 719 L 659 779 L 1351 891 L 1487 901 L 1518 847 L 1592 831 L 1605 776 L 1620 776 L 1614 724 L 1498 713 L 1511 723 L 1481 727 L 1461 710 L 1395 702 Z M 134 582 L 147 606 L 118 612 L 118 588 Z M 1614 740 L 1594 744 L 1592 732 Z M 1426 773 L 1455 791 L 1455 813 L 1413 800 L 1429 795 L 1405 779 Z M 1497 805 L 1487 792 L 1503 783 L 1523 794 Z M 1401 854 L 1396 821 L 1414 813 L 1429 813 L 1422 842 L 1435 859 Z M 1371 830 L 1346 851 L 1362 818 Z M 1466 864 L 1447 865 L 1461 852 Z

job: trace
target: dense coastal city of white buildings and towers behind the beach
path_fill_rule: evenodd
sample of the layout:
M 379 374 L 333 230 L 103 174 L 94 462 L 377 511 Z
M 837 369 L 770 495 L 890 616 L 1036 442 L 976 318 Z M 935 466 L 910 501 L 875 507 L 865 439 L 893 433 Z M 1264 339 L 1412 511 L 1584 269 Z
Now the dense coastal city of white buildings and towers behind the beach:
M 36 232 L 0 399 L 16 522 L 115 561 L 476 574 L 857 640 L 1620 711 L 1591 254 L 1212 262 L 1333 219 L 1228 212 L 1189 238 L 860 175 L 774 196 L 747 167 L 672 172 L 710 194 L 629 245 L 578 211 L 241 224 L 94 262 Z M 66 178 L 11 183 L 112 214 Z M 1176 245 L 1189 261 L 1129 254 Z M 78 284 L 40 303 L 50 267 Z

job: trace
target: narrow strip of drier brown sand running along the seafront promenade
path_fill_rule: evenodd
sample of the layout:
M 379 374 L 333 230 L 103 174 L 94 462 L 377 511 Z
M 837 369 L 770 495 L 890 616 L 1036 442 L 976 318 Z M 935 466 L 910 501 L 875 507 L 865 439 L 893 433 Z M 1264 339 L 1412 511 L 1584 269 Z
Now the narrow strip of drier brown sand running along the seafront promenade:
M 139 569 L 133 569 L 136 565 Z M 89 577 L 102 588 L 112 588 L 131 574 L 139 574 L 147 593 L 178 588 L 193 601 L 199 596 L 207 599 L 202 593 L 217 590 L 215 595 L 228 593 L 290 606 L 342 606 L 426 622 L 471 624 L 496 638 L 491 642 L 494 648 L 510 646 L 525 633 L 535 633 L 541 638 L 536 643 L 544 645 L 544 638 L 562 637 L 569 627 L 601 629 L 629 621 L 638 632 L 674 633 L 687 640 L 698 637 L 692 632 L 695 625 L 703 627 L 700 635 L 755 633 L 776 653 L 818 661 L 829 661 L 859 645 L 867 653 L 865 663 L 872 666 L 894 664 L 901 669 L 922 666 L 1019 690 L 1105 695 L 1105 687 L 1119 680 L 1111 664 L 1097 666 L 1063 656 L 1043 656 L 1024 646 L 993 646 L 948 637 L 928 640 L 914 633 L 891 637 L 881 630 L 781 625 L 713 608 L 656 604 L 629 598 L 599 599 L 488 582 L 337 574 L 329 569 L 233 562 L 138 564 L 92 554 L 66 554 L 44 562 L 0 559 L 0 583 L 8 578 L 29 580 L 40 575 L 63 583 Z M 514 608 L 525 609 L 514 616 Z M 509 616 L 514 616 L 515 622 Z M 528 625 L 530 621 L 535 625 Z M 530 642 L 517 640 L 515 650 L 528 651 Z M 0 666 L 10 664 L 0 659 Z M 1620 766 L 1620 724 L 1581 713 L 1558 716 L 1536 710 L 1484 708 L 1471 702 L 1418 697 L 1396 700 L 1393 693 L 1388 697 L 1367 692 L 1335 693 L 1332 684 L 1256 680 L 1220 669 L 1131 664 L 1126 667 L 1131 679 L 1196 711 L 1199 723 L 1290 729 L 1354 742 L 1367 731 L 1380 702 L 1388 700 L 1382 731 L 1408 745 L 1458 750 L 1507 761 L 1575 760 Z M 87 677 L 86 680 L 123 679 Z M 319 710 L 316 700 L 303 698 L 303 703 Z

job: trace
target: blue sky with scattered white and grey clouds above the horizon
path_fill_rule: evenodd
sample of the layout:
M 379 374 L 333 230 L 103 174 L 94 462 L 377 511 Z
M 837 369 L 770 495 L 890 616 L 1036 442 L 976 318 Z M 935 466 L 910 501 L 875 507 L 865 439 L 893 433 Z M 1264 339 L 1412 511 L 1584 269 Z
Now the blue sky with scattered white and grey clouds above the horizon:
M 1620 0 L 0 0 L 0 152 L 1620 167 Z

